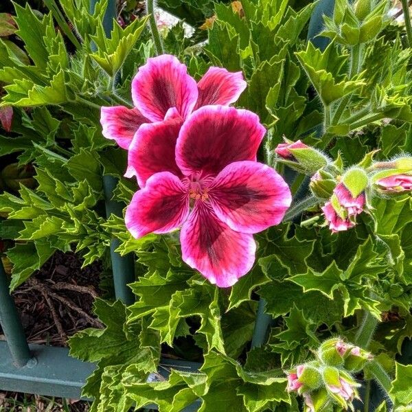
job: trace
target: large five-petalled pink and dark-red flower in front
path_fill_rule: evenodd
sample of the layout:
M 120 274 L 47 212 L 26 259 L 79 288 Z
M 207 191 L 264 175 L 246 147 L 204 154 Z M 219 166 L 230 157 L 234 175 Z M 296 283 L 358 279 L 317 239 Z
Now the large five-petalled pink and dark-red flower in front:
M 282 220 L 290 190 L 256 162 L 266 130 L 254 113 L 204 106 L 183 126 L 168 122 L 141 126 L 130 146 L 129 167 L 144 188 L 126 209 L 126 227 L 135 238 L 181 227 L 183 260 L 231 286 L 253 265 L 253 233 Z

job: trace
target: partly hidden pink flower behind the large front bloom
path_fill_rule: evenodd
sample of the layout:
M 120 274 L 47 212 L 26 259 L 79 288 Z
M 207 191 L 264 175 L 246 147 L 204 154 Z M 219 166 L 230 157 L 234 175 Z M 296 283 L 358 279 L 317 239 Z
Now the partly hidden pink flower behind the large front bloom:
M 176 57 L 163 54 L 149 58 L 132 80 L 135 107 L 102 107 L 102 133 L 128 149 L 142 124 L 162 122 L 170 117 L 183 122 L 198 107 L 236 102 L 246 86 L 241 71 L 230 73 L 220 67 L 210 67 L 196 84 L 187 74 L 187 67 Z

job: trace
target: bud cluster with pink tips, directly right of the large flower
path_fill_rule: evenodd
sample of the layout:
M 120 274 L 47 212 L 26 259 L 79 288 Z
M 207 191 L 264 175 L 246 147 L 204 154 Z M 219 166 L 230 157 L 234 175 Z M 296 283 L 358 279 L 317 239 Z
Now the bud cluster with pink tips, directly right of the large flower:
M 321 207 L 333 233 L 356 225 L 356 217 L 371 209 L 373 196 L 390 196 L 412 190 L 412 157 L 391 161 L 374 161 L 375 152 L 343 170 L 338 157 L 331 161 L 320 150 L 302 141 L 279 144 L 275 149 L 279 161 L 290 168 L 312 174 L 310 190 L 323 203 Z

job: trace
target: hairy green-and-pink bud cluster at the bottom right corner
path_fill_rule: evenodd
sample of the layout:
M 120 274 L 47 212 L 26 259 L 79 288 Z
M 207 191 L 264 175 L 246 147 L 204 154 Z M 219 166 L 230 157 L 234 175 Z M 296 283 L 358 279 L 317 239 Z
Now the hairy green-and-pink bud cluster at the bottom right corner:
M 352 373 L 360 371 L 372 358 L 360 347 L 334 338 L 322 343 L 317 359 L 288 371 L 288 391 L 303 396 L 304 412 L 317 412 L 335 404 L 352 409 L 360 386 Z

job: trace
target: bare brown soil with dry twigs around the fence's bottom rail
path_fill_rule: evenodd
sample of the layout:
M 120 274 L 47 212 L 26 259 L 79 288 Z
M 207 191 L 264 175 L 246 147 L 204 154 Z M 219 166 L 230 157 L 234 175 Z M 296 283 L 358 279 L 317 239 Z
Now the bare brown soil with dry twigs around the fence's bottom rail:
M 29 343 L 67 346 L 67 338 L 79 330 L 102 327 L 92 310 L 93 300 L 101 294 L 102 263 L 81 266 L 75 253 L 56 252 L 14 291 Z M 0 412 L 87 412 L 89 407 L 89 402 L 0 391 Z

